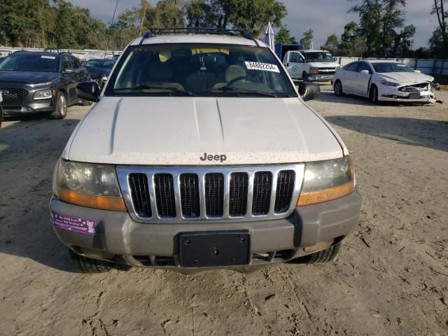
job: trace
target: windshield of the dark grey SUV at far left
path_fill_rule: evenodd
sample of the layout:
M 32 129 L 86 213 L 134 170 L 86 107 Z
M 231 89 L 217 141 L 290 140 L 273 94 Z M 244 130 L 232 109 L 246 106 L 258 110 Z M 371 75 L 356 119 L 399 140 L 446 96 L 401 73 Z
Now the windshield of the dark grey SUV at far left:
M 3 59 L 0 71 L 38 71 L 57 72 L 58 55 L 42 55 L 40 53 L 14 53 Z

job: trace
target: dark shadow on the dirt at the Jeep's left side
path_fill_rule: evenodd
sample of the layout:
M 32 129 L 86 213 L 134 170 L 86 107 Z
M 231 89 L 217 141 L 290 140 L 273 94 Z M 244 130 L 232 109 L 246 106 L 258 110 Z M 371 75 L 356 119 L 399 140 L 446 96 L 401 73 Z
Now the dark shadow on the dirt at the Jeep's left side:
M 18 123 L 0 130 L 0 253 L 75 272 L 50 224 L 48 203 L 55 163 L 79 120 L 13 120 Z

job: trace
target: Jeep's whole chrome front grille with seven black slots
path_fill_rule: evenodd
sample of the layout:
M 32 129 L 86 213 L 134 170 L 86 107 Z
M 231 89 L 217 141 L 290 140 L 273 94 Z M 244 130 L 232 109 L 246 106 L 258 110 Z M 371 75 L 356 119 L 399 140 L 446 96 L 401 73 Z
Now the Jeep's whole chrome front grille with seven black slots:
M 135 221 L 262 221 L 295 209 L 304 165 L 118 167 Z

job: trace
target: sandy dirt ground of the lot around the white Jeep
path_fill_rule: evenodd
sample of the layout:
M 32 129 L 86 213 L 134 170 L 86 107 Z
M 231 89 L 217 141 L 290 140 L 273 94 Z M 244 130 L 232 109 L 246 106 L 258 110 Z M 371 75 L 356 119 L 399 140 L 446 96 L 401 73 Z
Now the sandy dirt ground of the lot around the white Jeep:
M 77 274 L 52 231 L 57 157 L 87 108 L 0 130 L 0 335 L 448 335 L 448 91 L 309 104 L 350 148 L 358 228 L 329 265 Z

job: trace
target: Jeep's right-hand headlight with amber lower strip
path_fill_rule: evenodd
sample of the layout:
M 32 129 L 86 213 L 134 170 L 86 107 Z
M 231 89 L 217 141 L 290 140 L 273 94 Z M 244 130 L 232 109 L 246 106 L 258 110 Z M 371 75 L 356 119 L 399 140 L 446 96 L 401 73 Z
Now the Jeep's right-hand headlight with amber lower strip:
M 305 165 L 298 207 L 336 200 L 350 195 L 355 188 L 355 173 L 349 156 L 336 160 L 309 162 Z

